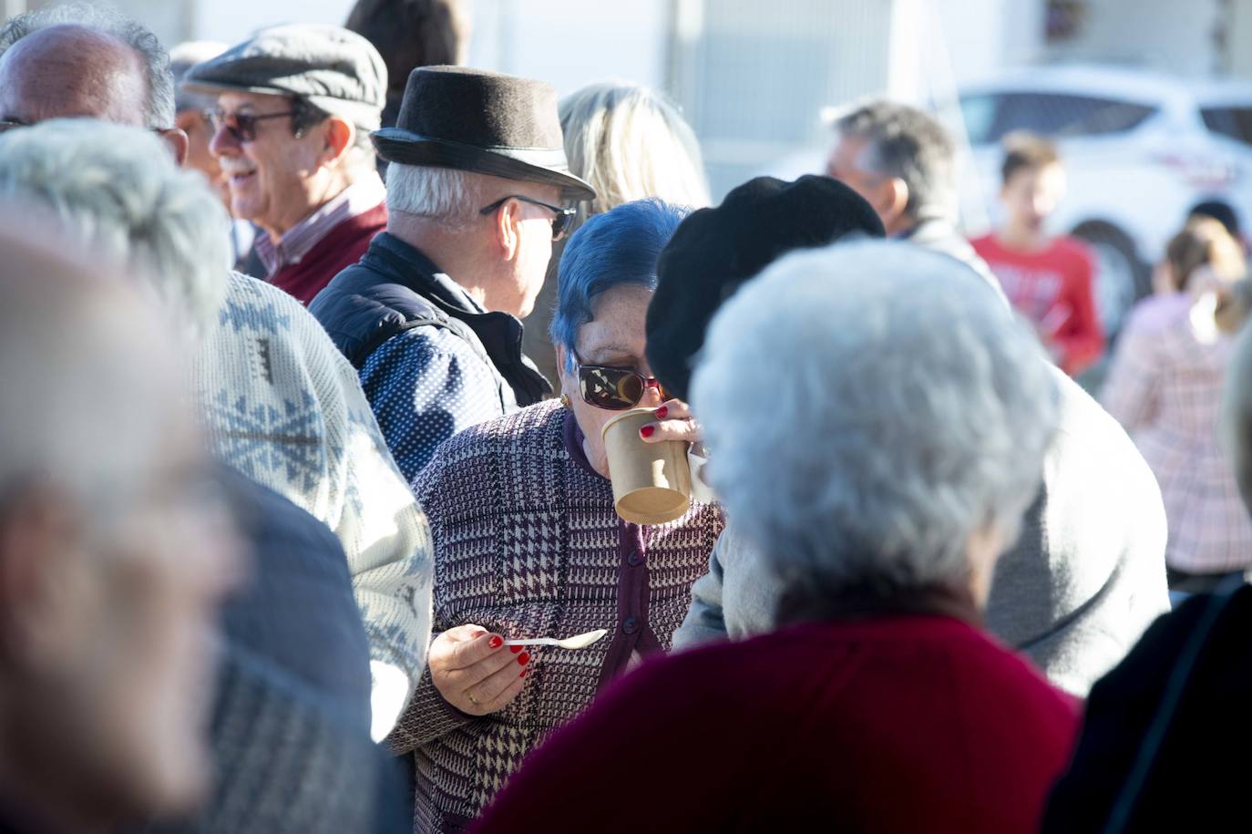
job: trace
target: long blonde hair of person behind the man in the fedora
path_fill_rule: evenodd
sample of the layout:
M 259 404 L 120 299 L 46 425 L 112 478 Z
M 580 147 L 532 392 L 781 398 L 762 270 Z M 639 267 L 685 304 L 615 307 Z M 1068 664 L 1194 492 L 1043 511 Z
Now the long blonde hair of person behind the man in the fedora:
M 657 197 L 674 205 L 709 204 L 700 145 L 670 101 L 645 86 L 591 84 L 561 100 L 570 170 L 596 189 L 587 214 Z

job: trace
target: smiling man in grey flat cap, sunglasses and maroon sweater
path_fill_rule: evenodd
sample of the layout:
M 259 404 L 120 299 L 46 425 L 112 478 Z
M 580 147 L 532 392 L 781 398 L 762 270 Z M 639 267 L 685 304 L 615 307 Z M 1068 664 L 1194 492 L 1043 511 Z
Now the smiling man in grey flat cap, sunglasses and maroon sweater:
M 309 303 L 387 224 L 369 131 L 387 68 L 364 38 L 324 25 L 264 29 L 193 66 L 235 217 L 255 223 L 265 279 Z

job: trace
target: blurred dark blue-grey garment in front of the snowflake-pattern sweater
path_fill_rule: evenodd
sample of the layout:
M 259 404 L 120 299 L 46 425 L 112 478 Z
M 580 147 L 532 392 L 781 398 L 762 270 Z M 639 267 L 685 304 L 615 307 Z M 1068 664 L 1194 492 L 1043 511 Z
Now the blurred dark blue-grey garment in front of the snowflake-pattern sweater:
M 222 612 L 213 794 L 149 834 L 408 831 L 396 761 L 369 739 L 369 647 L 339 540 L 219 467 L 252 579 Z

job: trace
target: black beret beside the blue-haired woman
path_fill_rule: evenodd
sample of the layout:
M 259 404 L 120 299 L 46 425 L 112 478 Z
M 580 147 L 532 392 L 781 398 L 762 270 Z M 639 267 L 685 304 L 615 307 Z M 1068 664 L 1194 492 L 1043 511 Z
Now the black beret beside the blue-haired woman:
M 885 233 L 873 207 L 829 177 L 757 177 L 682 220 L 661 252 L 647 308 L 647 361 L 665 389 L 687 398 L 705 329 L 740 284 L 791 249 L 846 234 Z

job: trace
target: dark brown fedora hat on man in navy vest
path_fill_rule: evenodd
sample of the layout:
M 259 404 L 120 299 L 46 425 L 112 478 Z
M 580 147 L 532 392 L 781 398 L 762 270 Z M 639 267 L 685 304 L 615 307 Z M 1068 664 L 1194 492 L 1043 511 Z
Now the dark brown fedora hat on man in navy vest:
M 570 173 L 556 89 L 543 81 L 466 66 L 419 66 L 408 76 L 396 126 L 371 136 L 391 163 L 556 185 L 572 200 L 596 197 Z

